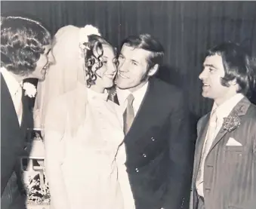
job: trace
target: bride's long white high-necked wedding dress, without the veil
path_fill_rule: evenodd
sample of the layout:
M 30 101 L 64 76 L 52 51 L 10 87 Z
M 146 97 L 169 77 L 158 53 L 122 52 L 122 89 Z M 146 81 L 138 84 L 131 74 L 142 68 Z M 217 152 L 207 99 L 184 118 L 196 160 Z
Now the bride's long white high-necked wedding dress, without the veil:
M 86 118 L 76 137 L 64 128 L 45 129 L 45 171 L 54 209 L 131 209 L 134 200 L 125 168 L 122 121 L 115 103 L 107 94 L 88 89 Z M 61 112 L 61 124 L 72 123 L 66 117 L 65 100 L 57 99 L 53 111 Z M 63 122 L 65 121 L 65 122 Z

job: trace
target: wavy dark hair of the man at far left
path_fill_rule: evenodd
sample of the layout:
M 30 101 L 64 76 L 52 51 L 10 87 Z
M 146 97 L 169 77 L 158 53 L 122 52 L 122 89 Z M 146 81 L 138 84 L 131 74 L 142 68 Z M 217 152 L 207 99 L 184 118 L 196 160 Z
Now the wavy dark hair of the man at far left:
M 1 66 L 17 75 L 33 72 L 51 34 L 35 20 L 1 17 Z

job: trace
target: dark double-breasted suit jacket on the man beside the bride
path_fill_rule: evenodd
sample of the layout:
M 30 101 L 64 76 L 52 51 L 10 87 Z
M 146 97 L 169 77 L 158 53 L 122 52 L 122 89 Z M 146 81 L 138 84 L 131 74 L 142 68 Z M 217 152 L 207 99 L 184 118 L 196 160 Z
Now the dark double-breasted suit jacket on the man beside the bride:
M 151 78 L 124 140 L 136 209 L 188 207 L 195 140 L 191 128 L 184 94 Z

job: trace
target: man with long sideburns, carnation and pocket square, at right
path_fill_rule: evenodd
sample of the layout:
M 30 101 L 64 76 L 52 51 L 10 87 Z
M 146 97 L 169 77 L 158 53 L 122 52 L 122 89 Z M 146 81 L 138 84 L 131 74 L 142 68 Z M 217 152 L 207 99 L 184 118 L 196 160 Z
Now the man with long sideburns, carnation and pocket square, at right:
M 256 106 L 248 54 L 227 42 L 211 48 L 199 75 L 214 106 L 198 122 L 190 209 L 256 206 Z

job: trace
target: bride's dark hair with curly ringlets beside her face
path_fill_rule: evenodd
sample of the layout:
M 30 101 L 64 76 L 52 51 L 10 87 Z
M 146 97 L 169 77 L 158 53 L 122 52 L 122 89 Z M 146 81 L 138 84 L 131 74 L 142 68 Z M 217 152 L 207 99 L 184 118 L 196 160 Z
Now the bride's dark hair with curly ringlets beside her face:
M 113 48 L 113 46 L 101 36 L 88 35 L 88 43 L 86 43 L 86 47 L 89 49 L 85 51 L 85 72 L 87 75 L 86 82 L 88 88 L 95 84 L 97 79 L 96 72 L 98 69 L 100 69 L 100 67 L 103 66 L 103 45 L 109 45 L 111 48 Z M 114 53 L 116 54 L 116 48 L 113 49 Z M 94 64 L 97 64 L 95 71 L 92 70 Z

